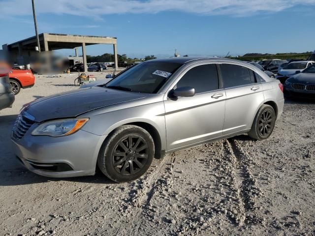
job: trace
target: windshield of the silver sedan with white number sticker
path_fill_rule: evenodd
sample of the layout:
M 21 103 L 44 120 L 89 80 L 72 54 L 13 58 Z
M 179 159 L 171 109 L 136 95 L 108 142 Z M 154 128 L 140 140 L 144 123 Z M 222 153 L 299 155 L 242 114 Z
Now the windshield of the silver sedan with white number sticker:
M 106 84 L 106 87 L 132 92 L 156 93 L 182 65 L 174 62 L 144 61 L 117 75 Z

